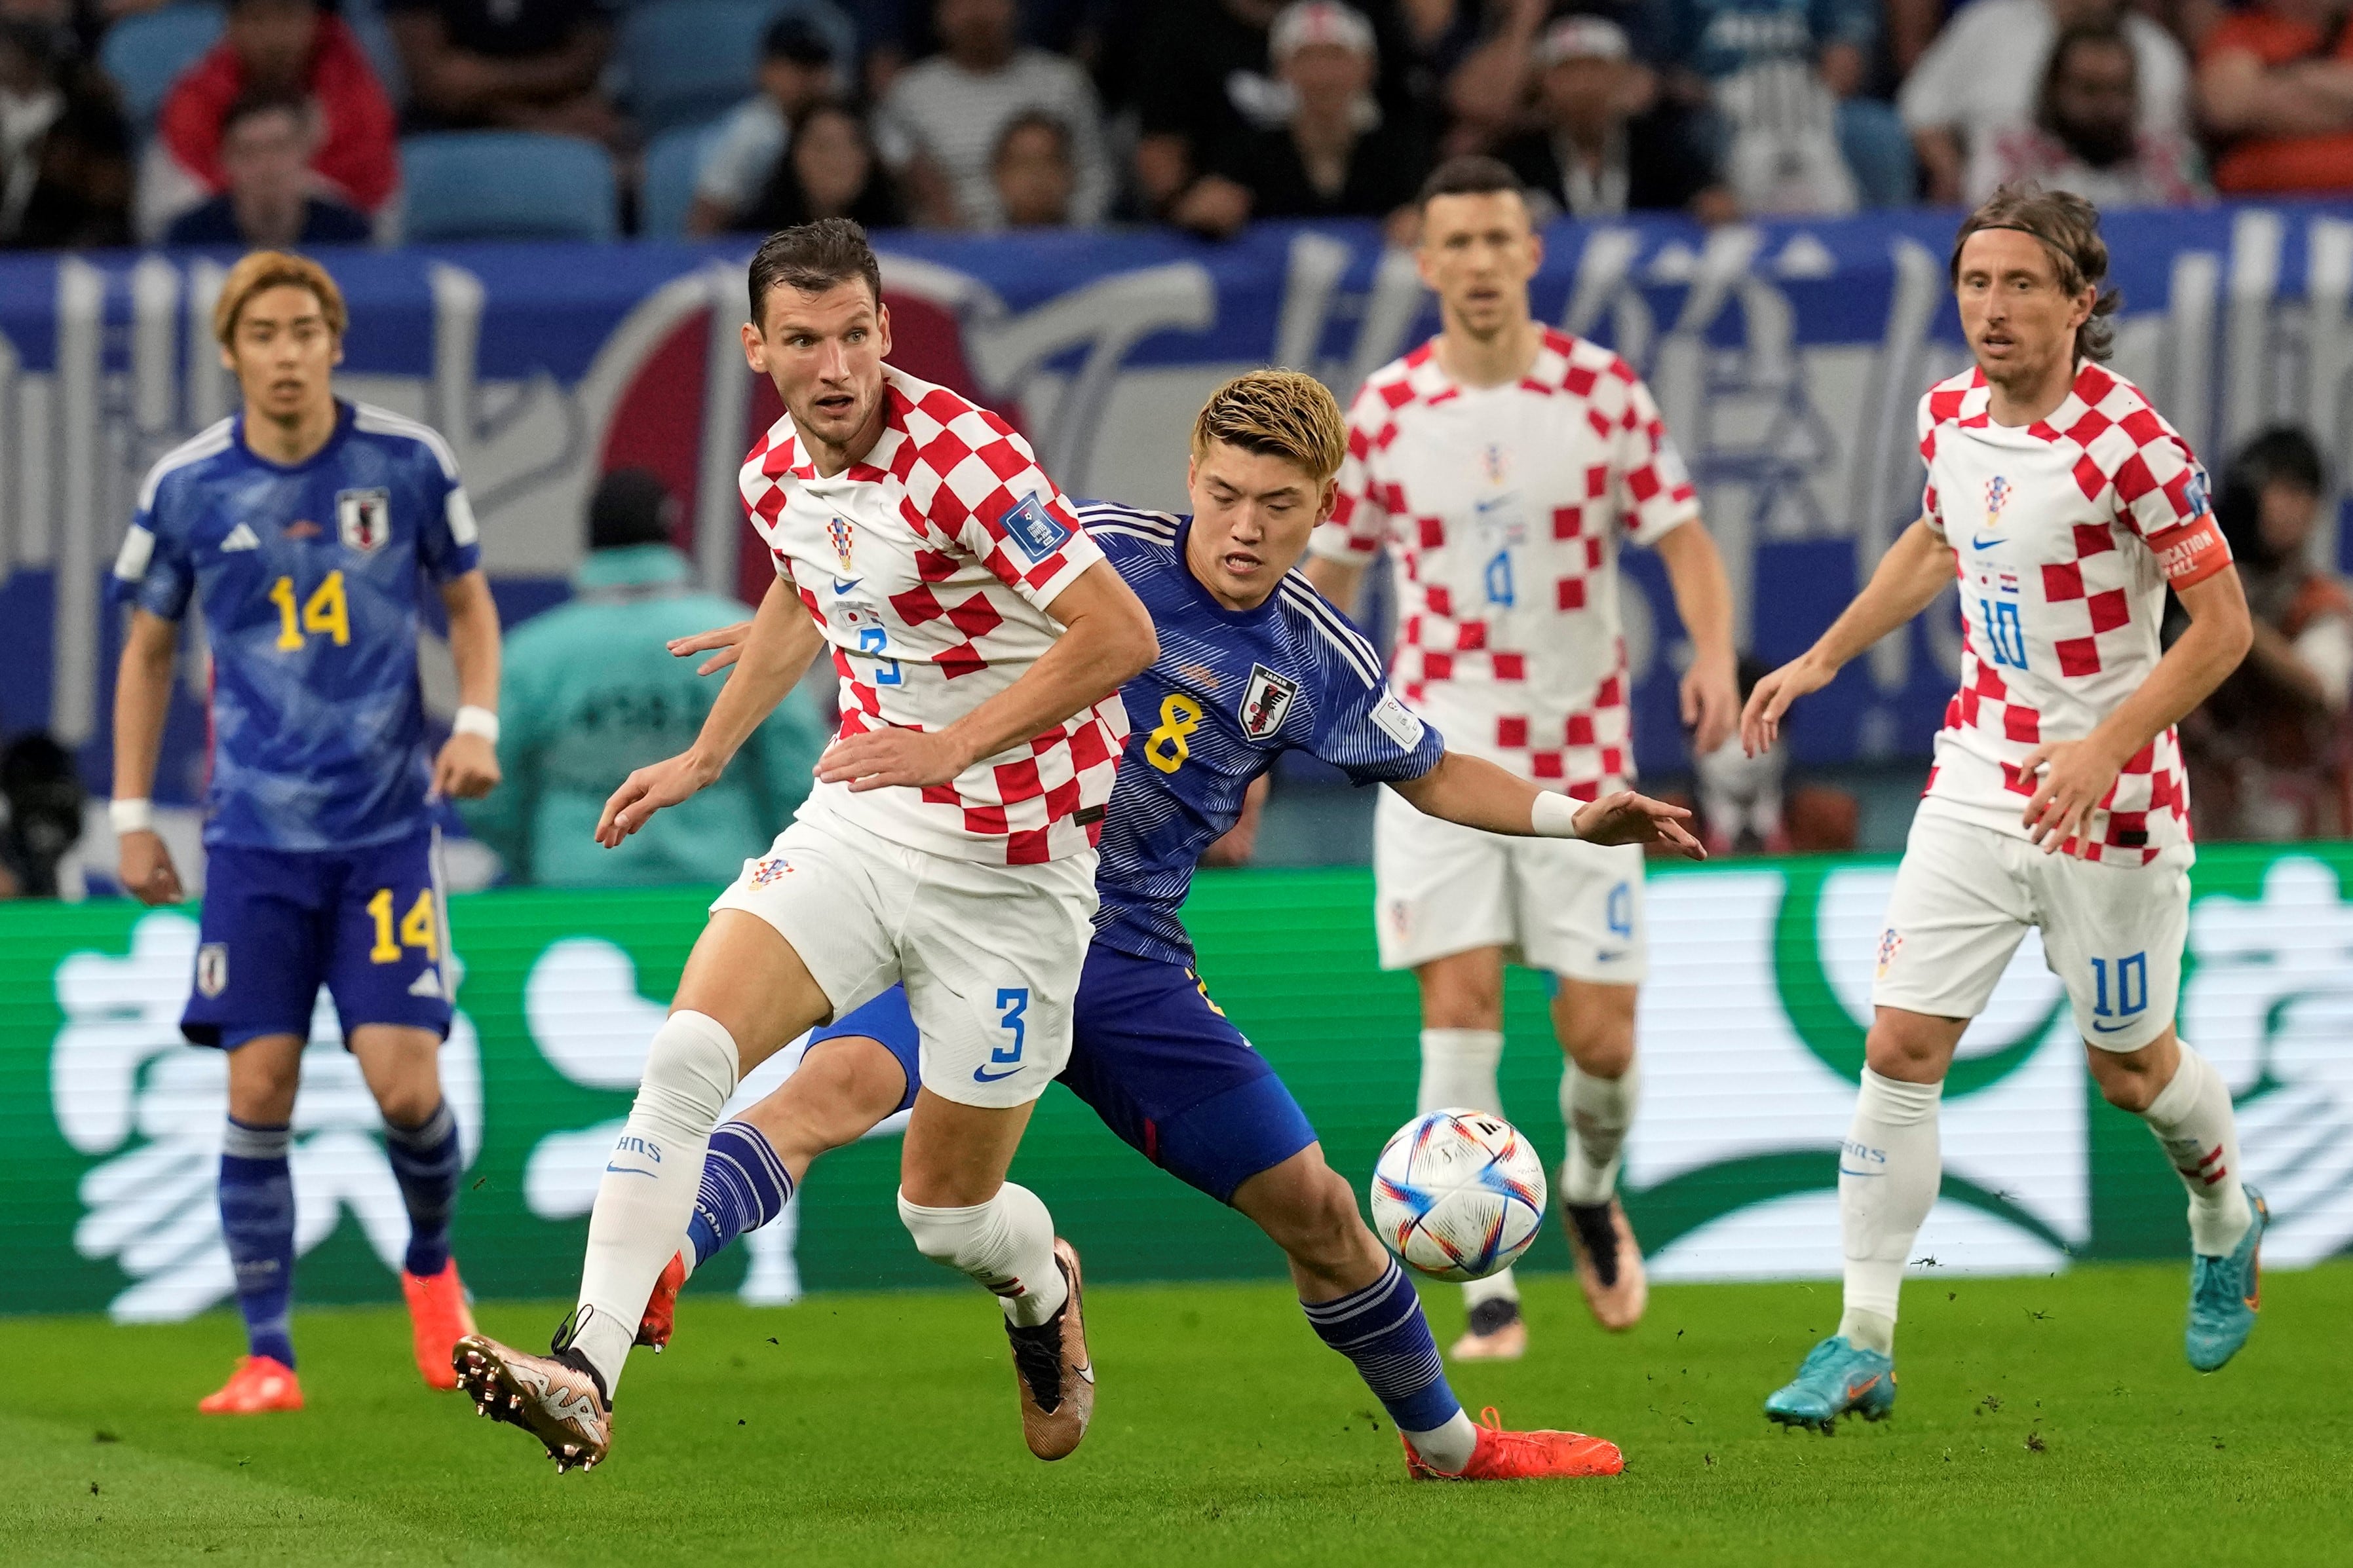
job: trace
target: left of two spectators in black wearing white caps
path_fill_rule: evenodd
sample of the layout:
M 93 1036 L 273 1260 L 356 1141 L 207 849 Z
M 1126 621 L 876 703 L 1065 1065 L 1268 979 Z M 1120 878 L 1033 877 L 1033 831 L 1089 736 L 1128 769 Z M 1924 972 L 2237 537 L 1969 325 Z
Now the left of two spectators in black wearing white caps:
M 1169 216 L 1219 237 L 1249 219 L 1384 219 L 1391 240 L 1409 242 L 1431 150 L 1412 120 L 1384 115 L 1372 96 L 1372 24 L 1339 0 L 1299 0 L 1275 16 L 1266 47 L 1289 115 L 1231 134 Z

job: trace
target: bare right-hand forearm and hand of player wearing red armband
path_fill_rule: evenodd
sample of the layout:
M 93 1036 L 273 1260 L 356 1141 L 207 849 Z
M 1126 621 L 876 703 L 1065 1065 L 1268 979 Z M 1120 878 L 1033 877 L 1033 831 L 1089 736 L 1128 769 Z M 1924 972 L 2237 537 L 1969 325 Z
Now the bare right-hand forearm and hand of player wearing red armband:
M 2174 646 L 2165 649 L 2165 658 L 2148 672 L 2148 679 L 2082 741 L 2045 741 L 2019 762 L 2019 773 L 2028 778 L 2040 773 L 2024 820 L 2026 837 L 2045 853 L 2057 851 L 2068 839 L 2075 839 L 2085 851 L 2092 849 L 2089 837 L 2078 830 L 2108 797 L 2108 788 L 2115 785 L 2115 776 L 2134 752 L 2207 701 L 2214 686 L 2247 656 L 2254 623 L 2247 614 L 2247 590 L 2238 581 L 2238 567 L 2224 567 L 2209 578 L 2174 588 L 2174 595 L 2188 611 L 2191 625 L 2174 639 Z

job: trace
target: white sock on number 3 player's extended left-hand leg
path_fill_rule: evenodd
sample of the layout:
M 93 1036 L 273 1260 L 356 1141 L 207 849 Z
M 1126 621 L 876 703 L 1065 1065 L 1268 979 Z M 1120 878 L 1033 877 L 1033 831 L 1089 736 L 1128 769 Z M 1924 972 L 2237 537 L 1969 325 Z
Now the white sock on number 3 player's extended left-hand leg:
M 706 1013 L 671 1013 L 645 1053 L 645 1081 L 605 1161 L 588 1215 L 574 1349 L 612 1396 L 661 1265 L 678 1251 L 704 1180 L 711 1128 L 741 1074 L 734 1037 Z

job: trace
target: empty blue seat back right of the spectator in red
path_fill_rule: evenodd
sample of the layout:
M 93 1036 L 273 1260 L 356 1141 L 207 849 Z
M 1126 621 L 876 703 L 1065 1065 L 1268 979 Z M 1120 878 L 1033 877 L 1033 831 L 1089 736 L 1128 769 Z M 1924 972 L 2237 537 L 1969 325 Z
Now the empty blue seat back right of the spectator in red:
M 612 158 L 579 136 L 433 132 L 400 141 L 402 221 L 431 240 L 612 240 Z

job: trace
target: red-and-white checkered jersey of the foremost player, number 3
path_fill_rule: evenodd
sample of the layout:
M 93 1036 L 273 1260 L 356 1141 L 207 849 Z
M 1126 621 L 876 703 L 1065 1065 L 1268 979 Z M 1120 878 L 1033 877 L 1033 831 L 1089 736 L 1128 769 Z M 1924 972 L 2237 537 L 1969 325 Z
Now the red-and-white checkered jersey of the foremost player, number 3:
M 840 475 L 819 477 L 786 414 L 739 477 L 776 576 L 833 644 L 840 738 L 946 729 L 1014 684 L 1061 635 L 1045 604 L 1104 559 L 1002 418 L 887 367 L 882 397 L 882 440 Z M 911 849 L 1038 865 L 1101 837 L 1125 741 L 1111 693 L 955 783 L 816 785 L 812 804 Z

